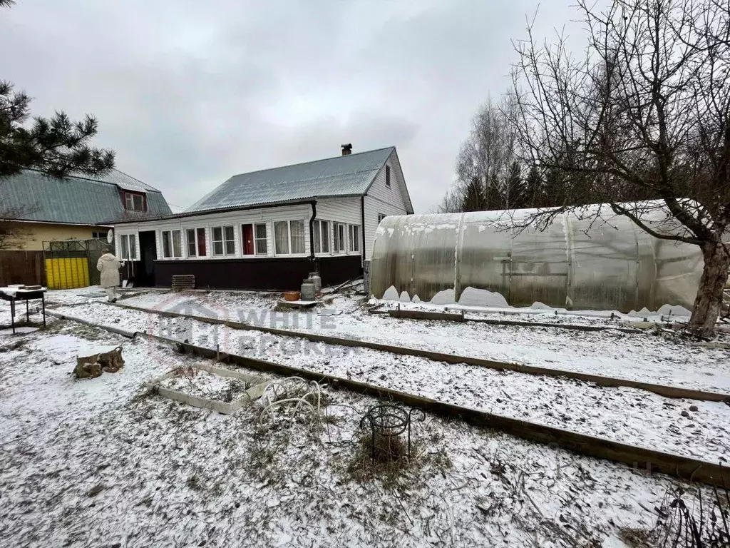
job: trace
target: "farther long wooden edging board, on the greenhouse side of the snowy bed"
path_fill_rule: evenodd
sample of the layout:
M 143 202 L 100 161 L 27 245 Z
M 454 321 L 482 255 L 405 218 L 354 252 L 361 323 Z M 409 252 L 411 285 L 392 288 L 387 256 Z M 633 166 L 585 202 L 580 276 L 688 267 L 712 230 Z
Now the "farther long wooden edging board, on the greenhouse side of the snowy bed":
M 719 402 L 730 402 L 730 395 L 722 394 L 720 392 L 709 392 L 706 390 L 695 390 L 680 387 L 667 387 L 661 384 L 652 384 L 642 381 L 631 381 L 626 378 L 613 378 L 604 377 L 600 375 L 593 375 L 591 373 L 577 373 L 575 371 L 567 371 L 562 369 L 551 369 L 542 368 L 537 365 L 523 365 L 512 362 L 497 362 L 492 359 L 475 358 L 469 356 L 458 356 L 457 354 L 445 354 L 443 352 L 413 349 L 406 346 L 394 346 L 384 343 L 374 343 L 368 340 L 356 340 L 350 338 L 333 337 L 331 335 L 320 335 L 318 333 L 308 333 L 302 331 L 282 330 L 276 327 L 264 327 L 257 325 L 245 324 L 240 321 L 225 320 L 218 318 L 209 318 L 207 316 L 193 316 L 191 314 L 184 314 L 179 312 L 160 311 L 152 308 L 142 308 L 134 305 L 125 305 L 119 302 L 110 303 L 104 302 L 110 306 L 117 306 L 119 308 L 127 308 L 128 310 L 134 310 L 145 313 L 158 314 L 167 318 L 187 318 L 195 321 L 201 321 L 206 324 L 212 325 L 226 325 L 231 329 L 237 330 L 254 330 L 269 333 L 271 335 L 281 335 L 283 337 L 294 337 L 312 340 L 315 343 L 327 343 L 338 346 L 349 346 L 359 347 L 372 350 L 380 350 L 385 352 L 391 352 L 392 354 L 401 354 L 404 356 L 415 356 L 431 359 L 434 362 L 445 362 L 454 365 L 475 365 L 477 367 L 483 367 L 494 370 L 506 370 L 515 371 L 515 373 L 526 373 L 528 375 L 538 376 L 550 376 L 550 377 L 563 377 L 572 378 L 576 381 L 591 382 L 601 387 L 615 388 L 615 387 L 627 387 L 636 388 L 639 390 L 645 390 L 647 392 L 653 392 L 664 397 L 672 398 L 687 398 L 690 400 L 704 400 L 704 401 L 719 401 Z

